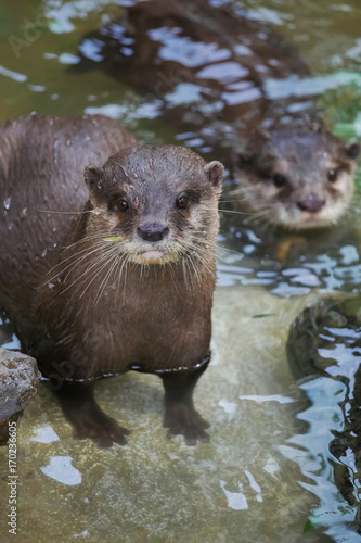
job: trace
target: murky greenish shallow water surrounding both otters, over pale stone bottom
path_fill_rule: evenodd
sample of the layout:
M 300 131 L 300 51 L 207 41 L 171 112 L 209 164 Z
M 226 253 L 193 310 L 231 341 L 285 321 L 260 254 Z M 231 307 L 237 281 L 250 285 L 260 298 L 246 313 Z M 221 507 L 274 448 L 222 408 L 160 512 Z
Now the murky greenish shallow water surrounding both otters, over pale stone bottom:
M 360 2 L 240 5 L 300 49 L 328 126 L 345 137 L 361 135 Z M 31 111 L 103 112 L 146 142 L 177 141 L 176 129 L 149 118 L 152 108 L 126 81 L 67 71 L 81 37 L 118 9 L 106 0 L 3 0 L 0 122 Z M 332 431 L 343 426 L 339 386 L 317 379 L 299 388 L 285 354 L 288 327 L 310 298 L 359 289 L 359 198 L 341 226 L 297 241 L 283 261 L 257 232 L 223 220 L 220 242 L 242 254 L 220 251 L 215 355 L 195 393 L 211 422 L 209 444 L 188 447 L 166 438 L 155 377 L 128 374 L 99 383 L 101 406 L 132 431 L 124 449 L 75 441 L 41 388 L 18 425 L 18 541 L 361 541 L 352 528 L 357 506 L 339 493 L 330 462 Z M 16 348 L 7 330 L 0 333 Z M 0 450 L 1 541 L 15 538 L 7 527 L 7 454 Z

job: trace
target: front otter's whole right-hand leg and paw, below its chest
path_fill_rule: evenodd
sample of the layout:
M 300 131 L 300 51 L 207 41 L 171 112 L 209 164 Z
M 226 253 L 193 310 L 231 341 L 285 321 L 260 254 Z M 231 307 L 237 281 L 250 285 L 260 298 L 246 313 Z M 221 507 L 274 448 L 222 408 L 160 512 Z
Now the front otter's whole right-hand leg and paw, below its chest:
M 188 445 L 195 445 L 197 440 L 209 441 L 209 435 L 205 431 L 206 428 L 209 428 L 209 424 L 195 411 L 192 400 L 194 387 L 208 362 L 209 356 L 196 369 L 169 371 L 160 375 L 166 394 L 164 426 L 168 428 L 168 437 L 184 435 Z

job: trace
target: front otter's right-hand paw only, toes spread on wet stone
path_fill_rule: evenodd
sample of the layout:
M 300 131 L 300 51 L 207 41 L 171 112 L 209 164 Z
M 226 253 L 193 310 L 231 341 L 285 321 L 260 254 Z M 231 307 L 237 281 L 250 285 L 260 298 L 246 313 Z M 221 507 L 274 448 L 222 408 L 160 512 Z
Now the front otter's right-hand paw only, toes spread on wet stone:
M 205 428 L 209 428 L 209 424 L 193 407 L 184 404 L 169 406 L 163 426 L 169 429 L 169 438 L 184 435 L 188 445 L 195 445 L 197 440 L 204 443 L 209 441 L 209 435 L 205 431 Z

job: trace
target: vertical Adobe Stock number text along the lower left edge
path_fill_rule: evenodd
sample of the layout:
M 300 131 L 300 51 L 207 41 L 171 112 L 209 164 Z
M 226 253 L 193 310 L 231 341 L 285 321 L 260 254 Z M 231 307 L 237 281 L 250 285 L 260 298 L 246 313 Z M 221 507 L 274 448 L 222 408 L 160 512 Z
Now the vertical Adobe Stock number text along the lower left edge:
M 9 422 L 9 454 L 8 454 L 8 488 L 9 488 L 9 513 L 8 513 L 8 531 L 13 535 L 17 533 L 17 427 L 16 421 Z

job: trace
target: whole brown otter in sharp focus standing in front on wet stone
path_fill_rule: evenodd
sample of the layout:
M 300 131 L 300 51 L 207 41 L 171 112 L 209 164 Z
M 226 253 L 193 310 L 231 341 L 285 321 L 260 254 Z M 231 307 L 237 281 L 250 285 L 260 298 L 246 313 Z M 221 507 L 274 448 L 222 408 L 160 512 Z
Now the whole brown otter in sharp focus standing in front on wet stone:
M 195 443 L 207 440 L 192 393 L 209 361 L 223 167 L 173 146 L 124 149 L 99 167 L 129 144 L 101 116 L 1 128 L 0 307 L 78 437 L 126 442 L 92 386 L 136 369 L 162 377 L 165 426 Z

